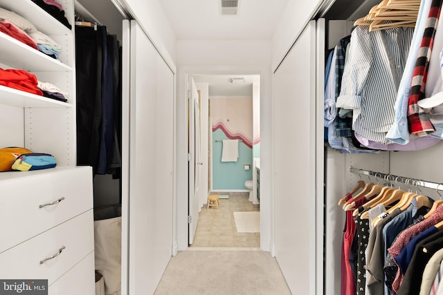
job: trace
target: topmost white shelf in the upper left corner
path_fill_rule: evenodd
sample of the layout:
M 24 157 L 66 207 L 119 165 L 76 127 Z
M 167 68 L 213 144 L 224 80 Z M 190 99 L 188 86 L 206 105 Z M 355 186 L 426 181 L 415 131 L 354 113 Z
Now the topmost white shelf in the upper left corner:
M 46 35 L 72 35 L 72 31 L 31 0 L 0 0 L 0 7 L 24 17 Z M 71 23 L 73 26 L 73 23 Z

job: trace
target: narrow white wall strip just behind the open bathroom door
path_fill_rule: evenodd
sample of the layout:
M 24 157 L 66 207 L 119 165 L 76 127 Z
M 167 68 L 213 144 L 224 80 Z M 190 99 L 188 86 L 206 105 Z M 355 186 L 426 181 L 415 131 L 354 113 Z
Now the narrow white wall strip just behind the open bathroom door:
M 199 181 L 199 207 L 206 204 L 208 198 L 208 121 L 209 121 L 209 85 L 208 83 L 196 83 L 197 89 L 200 91 L 201 101 L 200 101 L 200 140 L 201 140 L 201 151 L 200 160 L 203 162 L 200 171 L 200 181 Z

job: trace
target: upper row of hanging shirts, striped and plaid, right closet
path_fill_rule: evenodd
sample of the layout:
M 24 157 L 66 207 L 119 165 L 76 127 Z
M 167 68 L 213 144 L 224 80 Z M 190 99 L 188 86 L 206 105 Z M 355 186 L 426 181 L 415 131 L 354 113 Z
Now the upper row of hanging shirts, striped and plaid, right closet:
M 383 0 L 329 50 L 325 143 L 414 151 L 443 138 L 442 0 Z

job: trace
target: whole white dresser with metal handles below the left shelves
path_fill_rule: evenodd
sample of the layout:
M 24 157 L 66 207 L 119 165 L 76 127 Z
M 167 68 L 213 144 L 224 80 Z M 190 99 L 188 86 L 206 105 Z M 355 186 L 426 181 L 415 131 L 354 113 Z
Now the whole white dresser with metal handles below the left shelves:
M 13 174 L 0 174 L 0 278 L 48 279 L 49 294 L 93 294 L 91 168 Z

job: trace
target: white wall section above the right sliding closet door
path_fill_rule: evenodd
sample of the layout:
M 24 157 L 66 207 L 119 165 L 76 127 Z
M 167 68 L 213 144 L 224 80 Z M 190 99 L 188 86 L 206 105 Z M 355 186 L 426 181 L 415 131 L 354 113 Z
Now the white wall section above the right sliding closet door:
M 294 41 L 314 17 L 323 0 L 289 0 L 272 39 L 272 70 L 277 68 Z

